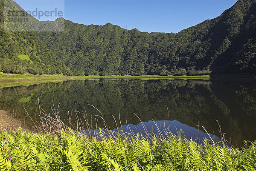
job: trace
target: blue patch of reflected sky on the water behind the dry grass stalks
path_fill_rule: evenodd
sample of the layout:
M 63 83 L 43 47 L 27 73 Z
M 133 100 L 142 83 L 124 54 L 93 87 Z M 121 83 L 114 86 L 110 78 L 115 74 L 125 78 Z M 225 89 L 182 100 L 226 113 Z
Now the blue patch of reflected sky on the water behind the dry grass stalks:
M 105 135 L 108 136 L 110 133 L 105 130 L 101 129 L 103 132 L 105 132 Z M 137 135 L 142 134 L 143 136 L 147 137 L 146 135 L 149 135 L 149 137 L 160 137 L 160 138 L 168 138 L 170 133 L 175 134 L 178 136 L 180 130 L 183 131 L 185 137 L 187 139 L 192 139 L 197 141 L 198 143 L 201 143 L 204 138 L 207 138 L 208 140 L 212 138 L 213 141 L 219 142 L 221 139 L 214 135 L 214 134 L 207 134 L 204 131 L 201 131 L 199 129 L 193 128 L 191 126 L 188 126 L 186 124 L 180 123 L 177 120 L 169 121 L 169 120 L 158 120 L 158 121 L 148 121 L 139 123 L 138 125 L 128 124 L 123 125 L 119 128 L 113 129 L 110 135 L 116 136 L 120 131 L 127 133 L 125 134 L 128 137 L 131 137 L 131 135 Z M 100 129 L 86 129 L 82 131 L 83 133 L 86 133 L 87 135 L 91 135 L 93 137 L 96 137 L 97 134 L 99 134 Z M 210 137 L 209 137 L 210 136 Z

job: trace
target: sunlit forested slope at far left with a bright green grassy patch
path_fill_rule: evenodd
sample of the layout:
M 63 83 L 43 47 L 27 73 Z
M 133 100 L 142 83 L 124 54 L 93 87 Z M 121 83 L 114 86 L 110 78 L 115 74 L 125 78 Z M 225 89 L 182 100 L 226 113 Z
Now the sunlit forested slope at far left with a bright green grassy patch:
M 0 71 L 17 74 L 71 74 L 61 60 L 39 40 L 35 32 L 4 31 L 3 12 L 17 10 L 17 7 L 19 6 L 14 1 L 5 0 L 5 4 L 3 0 L 0 1 Z M 39 22 L 33 17 L 29 19 L 31 23 Z M 15 27 L 29 28 L 17 22 Z

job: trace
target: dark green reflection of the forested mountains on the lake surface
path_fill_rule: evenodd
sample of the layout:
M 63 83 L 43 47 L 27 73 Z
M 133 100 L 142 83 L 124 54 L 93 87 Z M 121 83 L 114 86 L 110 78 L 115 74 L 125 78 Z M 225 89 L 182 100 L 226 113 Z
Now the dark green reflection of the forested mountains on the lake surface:
M 113 117 L 122 124 L 137 125 L 141 120 L 178 120 L 196 127 L 204 125 L 211 133 L 218 134 L 218 120 L 226 138 L 234 141 L 256 139 L 256 81 L 255 80 L 73 80 L 61 83 L 44 83 L 28 87 L 19 86 L 0 90 L 0 109 L 15 110 L 17 118 L 25 115 L 23 105 L 36 118 L 38 98 L 41 108 L 50 112 L 53 102 L 60 103 L 61 118 L 67 111 L 99 114 L 98 108 L 109 125 Z M 74 114 L 74 112 L 72 112 Z M 119 120 L 119 119 L 118 119 Z M 102 122 L 99 121 L 98 125 Z

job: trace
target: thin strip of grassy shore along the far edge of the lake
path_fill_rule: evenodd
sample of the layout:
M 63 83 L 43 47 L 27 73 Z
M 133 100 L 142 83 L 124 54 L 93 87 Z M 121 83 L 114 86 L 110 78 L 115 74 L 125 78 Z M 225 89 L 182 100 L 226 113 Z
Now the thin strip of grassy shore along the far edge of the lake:
M 233 78 L 256 78 L 255 75 L 250 74 L 213 74 L 213 75 L 197 75 L 197 76 L 159 76 L 159 75 L 90 75 L 90 76 L 65 76 L 65 75 L 32 75 L 32 74 L 3 74 L 0 73 L 0 88 L 15 87 L 15 86 L 29 86 L 34 84 L 41 84 L 47 82 L 61 82 L 67 80 L 88 80 L 88 79 L 196 79 L 196 80 L 211 80 L 211 79 L 233 79 Z

